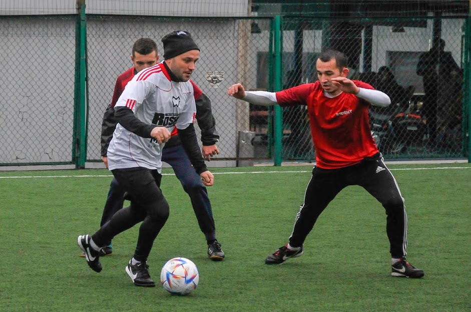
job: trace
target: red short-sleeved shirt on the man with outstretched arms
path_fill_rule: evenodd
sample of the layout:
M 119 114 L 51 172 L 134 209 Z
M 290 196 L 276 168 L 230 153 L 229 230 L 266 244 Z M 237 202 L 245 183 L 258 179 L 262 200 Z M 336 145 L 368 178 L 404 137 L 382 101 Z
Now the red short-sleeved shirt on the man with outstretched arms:
M 353 82 L 374 89 L 362 81 Z M 316 81 L 276 92 L 276 100 L 280 106 L 307 105 L 319 168 L 351 166 L 378 153 L 369 127 L 370 104 L 356 95 L 342 92 L 329 98 Z

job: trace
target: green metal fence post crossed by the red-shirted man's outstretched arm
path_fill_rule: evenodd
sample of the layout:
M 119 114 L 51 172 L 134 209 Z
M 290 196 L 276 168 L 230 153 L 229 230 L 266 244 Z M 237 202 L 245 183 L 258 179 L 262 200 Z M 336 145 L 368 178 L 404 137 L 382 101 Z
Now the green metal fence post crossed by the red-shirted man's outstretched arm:
M 281 51 L 282 51 L 282 42 L 281 42 L 281 16 L 277 15 L 274 19 L 274 72 L 273 72 L 273 81 L 274 81 L 274 91 L 281 90 L 282 84 L 282 72 L 281 72 Z M 281 166 L 281 138 L 283 135 L 283 125 L 282 125 L 282 111 L 279 105 L 274 107 L 275 111 L 275 122 L 274 122 L 274 164 L 275 166 Z

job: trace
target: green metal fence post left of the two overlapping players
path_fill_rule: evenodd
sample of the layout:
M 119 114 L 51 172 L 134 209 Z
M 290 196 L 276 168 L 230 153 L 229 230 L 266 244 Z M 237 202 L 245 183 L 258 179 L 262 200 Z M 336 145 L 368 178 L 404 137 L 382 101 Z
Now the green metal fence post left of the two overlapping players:
M 85 168 L 87 159 L 87 18 L 85 0 L 77 0 L 79 18 L 76 28 L 76 69 L 74 99 L 74 132 L 72 157 L 76 168 Z

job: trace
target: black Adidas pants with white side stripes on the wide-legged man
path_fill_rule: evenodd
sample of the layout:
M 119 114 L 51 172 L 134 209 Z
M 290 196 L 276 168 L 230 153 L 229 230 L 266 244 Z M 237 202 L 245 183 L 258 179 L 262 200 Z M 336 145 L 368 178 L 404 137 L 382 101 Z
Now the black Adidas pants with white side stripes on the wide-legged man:
M 335 196 L 349 185 L 359 185 L 376 198 L 386 210 L 386 233 L 393 258 L 406 255 L 407 214 L 396 180 L 380 154 L 357 165 L 341 169 L 314 167 L 304 203 L 296 215 L 289 243 L 302 246 L 319 215 Z

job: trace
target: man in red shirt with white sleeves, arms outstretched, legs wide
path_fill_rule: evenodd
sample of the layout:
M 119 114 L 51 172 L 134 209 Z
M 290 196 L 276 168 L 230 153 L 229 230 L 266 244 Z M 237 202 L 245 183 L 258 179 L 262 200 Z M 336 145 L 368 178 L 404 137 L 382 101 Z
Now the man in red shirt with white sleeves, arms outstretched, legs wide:
M 385 107 L 389 97 L 367 83 L 350 80 L 348 60 L 336 50 L 322 52 L 317 61 L 318 81 L 280 92 L 245 91 L 238 83 L 227 93 L 257 105 L 306 105 L 316 151 L 294 229 L 285 246 L 265 260 L 282 264 L 303 254 L 303 243 L 314 224 L 335 196 L 349 185 L 359 185 L 386 210 L 386 233 L 390 243 L 392 276 L 420 278 L 423 271 L 406 261 L 407 215 L 396 180 L 376 147 L 368 120 L 370 105 Z

